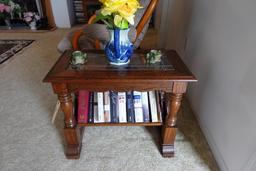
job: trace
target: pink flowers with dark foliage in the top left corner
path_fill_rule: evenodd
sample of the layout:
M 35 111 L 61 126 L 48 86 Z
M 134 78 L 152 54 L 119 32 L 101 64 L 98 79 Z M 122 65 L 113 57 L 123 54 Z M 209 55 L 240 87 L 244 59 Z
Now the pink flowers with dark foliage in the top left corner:
M 0 19 L 13 19 L 17 15 L 21 18 L 21 7 L 12 0 L 0 0 Z

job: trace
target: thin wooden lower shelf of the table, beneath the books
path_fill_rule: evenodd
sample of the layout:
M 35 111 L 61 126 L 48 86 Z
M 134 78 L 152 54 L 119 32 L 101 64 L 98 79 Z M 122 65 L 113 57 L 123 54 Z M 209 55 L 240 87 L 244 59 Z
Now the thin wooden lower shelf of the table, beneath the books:
M 78 126 L 162 126 L 162 122 L 143 123 L 78 123 Z

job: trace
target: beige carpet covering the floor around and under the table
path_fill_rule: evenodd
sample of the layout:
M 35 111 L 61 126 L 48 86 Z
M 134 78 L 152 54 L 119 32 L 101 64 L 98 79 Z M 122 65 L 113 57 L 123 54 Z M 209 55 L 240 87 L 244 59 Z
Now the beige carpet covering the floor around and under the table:
M 0 67 L 0 170 L 218 170 L 187 103 L 179 113 L 174 158 L 162 158 L 154 128 L 90 127 L 80 160 L 65 159 L 63 115 L 51 124 L 56 96 L 42 79 L 67 32 L 0 33 L 3 39 L 36 40 Z

